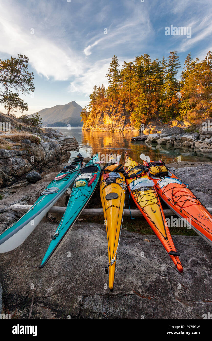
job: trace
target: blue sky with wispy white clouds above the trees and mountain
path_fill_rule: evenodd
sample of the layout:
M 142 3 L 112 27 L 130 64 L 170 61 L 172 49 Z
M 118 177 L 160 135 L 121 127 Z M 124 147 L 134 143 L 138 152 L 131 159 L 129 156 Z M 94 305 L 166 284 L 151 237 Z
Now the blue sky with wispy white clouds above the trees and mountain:
M 176 50 L 183 68 L 189 52 L 201 60 L 212 50 L 211 23 L 212 0 L 0 0 L 0 59 L 29 58 L 35 91 L 21 96 L 25 113 L 84 106 L 94 85 L 107 87 L 113 55 L 121 67 L 144 53 L 161 60 Z M 187 27 L 187 35 L 171 35 L 171 25 Z

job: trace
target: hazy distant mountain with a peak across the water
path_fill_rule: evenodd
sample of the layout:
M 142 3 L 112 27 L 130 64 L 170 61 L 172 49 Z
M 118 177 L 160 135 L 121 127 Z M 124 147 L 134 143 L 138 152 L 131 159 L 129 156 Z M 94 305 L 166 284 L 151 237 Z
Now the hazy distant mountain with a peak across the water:
M 42 109 L 38 112 L 42 118 L 42 126 L 63 127 L 70 124 L 72 126 L 82 126 L 80 112 L 82 107 L 75 101 L 65 105 L 55 105 L 52 108 Z M 29 115 L 28 117 L 32 117 Z

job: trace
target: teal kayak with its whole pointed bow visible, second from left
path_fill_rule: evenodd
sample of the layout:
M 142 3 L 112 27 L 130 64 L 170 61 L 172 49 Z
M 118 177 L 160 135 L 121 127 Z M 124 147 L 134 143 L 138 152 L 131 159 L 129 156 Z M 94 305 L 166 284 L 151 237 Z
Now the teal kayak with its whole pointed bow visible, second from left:
M 100 164 L 98 162 L 98 154 L 96 154 L 85 167 L 81 168 L 78 177 L 75 179 L 66 210 L 63 214 L 61 222 L 39 267 L 43 268 L 50 258 L 59 250 L 74 223 L 78 219 L 80 213 L 91 199 L 100 178 Z

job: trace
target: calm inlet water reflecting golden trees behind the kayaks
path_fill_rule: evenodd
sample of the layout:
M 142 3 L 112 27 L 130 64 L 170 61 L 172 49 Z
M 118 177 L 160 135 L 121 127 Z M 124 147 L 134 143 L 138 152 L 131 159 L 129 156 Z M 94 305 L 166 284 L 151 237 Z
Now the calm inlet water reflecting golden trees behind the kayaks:
M 49 127 L 48 127 L 49 128 Z M 71 127 L 70 130 L 64 127 L 51 127 L 60 130 L 64 135 L 76 137 L 80 149 L 79 152 L 84 157 L 91 157 L 97 151 L 101 154 L 110 154 L 113 151 L 115 154 L 121 154 L 121 163 L 124 163 L 124 151 L 136 161 L 140 161 L 139 155 L 144 153 L 149 155 L 152 160 L 162 159 L 165 163 L 178 161 L 181 156 L 181 161 L 210 161 L 212 160 L 208 154 L 201 154 L 182 149 L 173 149 L 173 147 L 160 146 L 157 143 L 147 145 L 144 142 L 131 142 L 132 136 L 137 136 L 138 133 L 110 133 L 110 132 L 91 132 L 82 131 L 80 127 Z M 83 147 L 83 146 L 90 147 Z M 71 157 L 77 155 L 78 152 L 71 152 Z

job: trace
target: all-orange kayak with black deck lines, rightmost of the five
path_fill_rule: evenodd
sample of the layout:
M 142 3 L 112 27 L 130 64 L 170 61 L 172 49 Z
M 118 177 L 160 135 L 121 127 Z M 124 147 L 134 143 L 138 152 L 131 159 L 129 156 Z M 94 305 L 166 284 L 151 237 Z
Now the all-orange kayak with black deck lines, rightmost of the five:
M 145 161 L 144 165 L 151 169 L 151 162 Z M 165 177 L 151 176 L 151 179 L 166 205 L 212 246 L 212 216 L 194 193 L 187 188 L 188 185 L 180 181 L 170 170 Z

